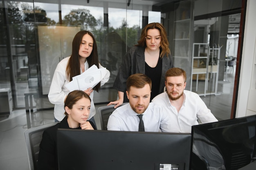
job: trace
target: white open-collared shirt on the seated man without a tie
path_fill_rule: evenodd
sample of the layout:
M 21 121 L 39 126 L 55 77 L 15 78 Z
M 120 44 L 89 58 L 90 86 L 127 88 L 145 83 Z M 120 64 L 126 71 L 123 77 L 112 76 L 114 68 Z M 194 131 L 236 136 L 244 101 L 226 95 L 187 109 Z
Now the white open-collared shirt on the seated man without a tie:
M 162 105 L 165 112 L 170 115 L 171 132 L 191 133 L 191 126 L 199 124 L 198 118 L 203 124 L 218 121 L 198 94 L 184 90 L 183 96 L 184 101 L 179 112 L 171 105 L 166 92 L 152 100 L 153 103 Z

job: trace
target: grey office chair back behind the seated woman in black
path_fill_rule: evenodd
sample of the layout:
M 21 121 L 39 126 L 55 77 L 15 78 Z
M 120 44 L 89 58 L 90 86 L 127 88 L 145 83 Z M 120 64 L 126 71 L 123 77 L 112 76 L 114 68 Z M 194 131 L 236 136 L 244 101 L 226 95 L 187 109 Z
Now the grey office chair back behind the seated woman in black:
M 39 145 L 42 140 L 43 131 L 57 123 L 58 122 L 53 122 L 25 130 L 25 140 L 30 170 L 37 170 L 36 165 L 38 161 Z

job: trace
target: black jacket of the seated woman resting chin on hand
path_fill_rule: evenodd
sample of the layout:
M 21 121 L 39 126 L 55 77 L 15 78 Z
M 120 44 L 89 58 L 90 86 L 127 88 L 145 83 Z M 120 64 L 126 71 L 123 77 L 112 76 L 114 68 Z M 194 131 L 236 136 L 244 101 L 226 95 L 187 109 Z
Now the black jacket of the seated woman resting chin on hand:
M 89 121 L 94 129 L 95 125 Z M 58 170 L 58 157 L 57 157 L 57 130 L 58 128 L 71 129 L 67 123 L 67 116 L 64 119 L 52 126 L 47 128 L 43 132 L 42 141 L 40 143 L 39 155 L 38 155 L 38 169 L 39 170 Z M 78 127 L 76 129 L 81 129 Z M 67 158 L 68 161 L 68 158 Z

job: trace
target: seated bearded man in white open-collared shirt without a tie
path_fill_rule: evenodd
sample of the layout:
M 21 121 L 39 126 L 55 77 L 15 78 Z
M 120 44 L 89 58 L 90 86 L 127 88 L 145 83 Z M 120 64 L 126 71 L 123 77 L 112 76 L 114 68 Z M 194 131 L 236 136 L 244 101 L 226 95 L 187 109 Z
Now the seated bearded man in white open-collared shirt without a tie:
M 162 105 L 171 117 L 171 132 L 191 133 L 191 126 L 218 121 L 200 96 L 184 90 L 186 72 L 181 68 L 170 68 L 165 75 L 166 92 L 157 95 L 152 102 Z

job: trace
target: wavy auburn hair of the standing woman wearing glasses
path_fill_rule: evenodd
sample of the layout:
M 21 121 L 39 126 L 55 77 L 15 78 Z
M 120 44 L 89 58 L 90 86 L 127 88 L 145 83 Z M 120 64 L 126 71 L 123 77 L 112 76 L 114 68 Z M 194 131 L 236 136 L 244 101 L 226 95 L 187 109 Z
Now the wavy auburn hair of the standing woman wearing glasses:
M 161 42 L 160 42 L 160 48 L 162 49 L 162 52 L 160 54 L 160 57 L 164 57 L 164 55 L 166 55 L 168 57 L 168 55 L 171 55 L 171 51 L 169 49 L 169 42 L 167 40 L 167 34 L 166 31 L 164 29 L 164 26 L 158 22 L 153 22 L 150 24 L 147 24 L 144 29 L 141 31 L 141 36 L 139 38 L 138 44 L 135 46 L 142 46 L 142 47 L 146 47 L 146 39 L 145 37 L 147 36 L 148 30 L 149 29 L 158 29 L 160 32 L 160 36 L 161 36 Z

